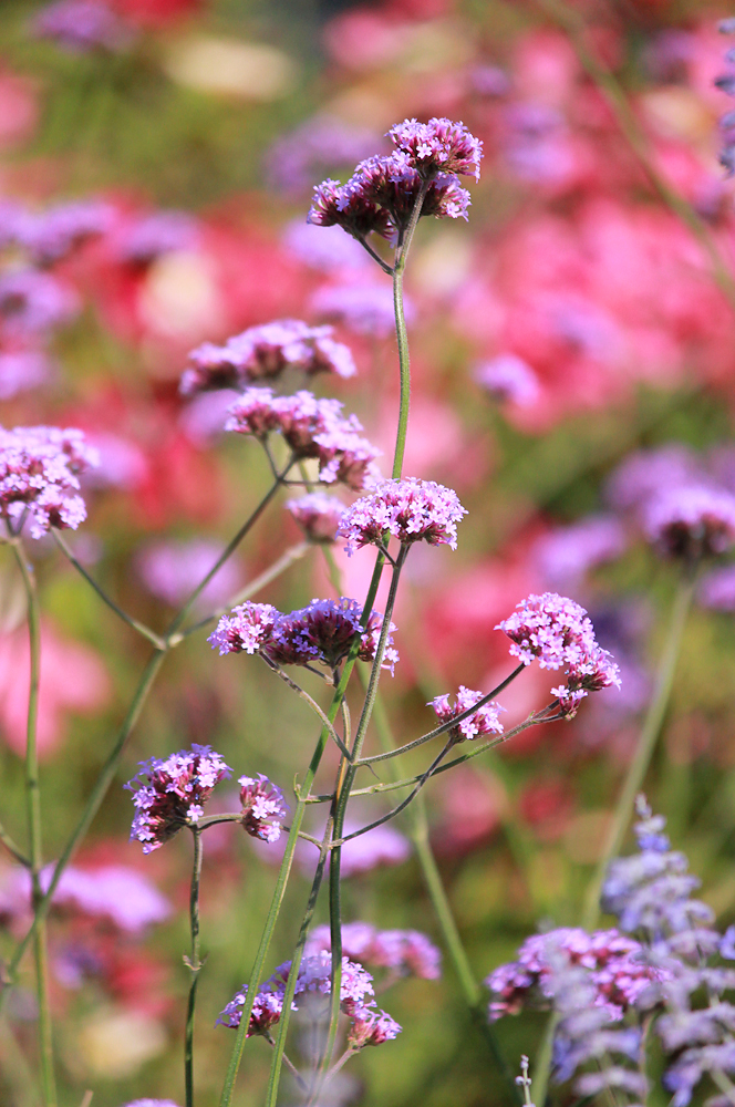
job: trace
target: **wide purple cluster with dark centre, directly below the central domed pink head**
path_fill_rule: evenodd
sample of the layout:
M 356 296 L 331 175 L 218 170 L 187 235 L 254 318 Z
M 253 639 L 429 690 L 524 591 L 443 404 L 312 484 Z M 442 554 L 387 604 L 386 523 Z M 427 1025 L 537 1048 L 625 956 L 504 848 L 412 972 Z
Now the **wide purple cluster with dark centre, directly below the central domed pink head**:
M 334 670 L 346 658 L 355 634 L 360 634 L 361 661 L 373 661 L 383 617 L 372 611 L 365 625 L 362 607 L 346 596 L 339 600 L 312 600 L 306 608 L 281 613 L 270 603 L 241 603 L 222 615 L 209 635 L 213 649 L 226 653 L 261 653 L 277 665 L 308 665 L 314 662 Z M 398 660 L 393 648 L 391 623 L 383 666 Z

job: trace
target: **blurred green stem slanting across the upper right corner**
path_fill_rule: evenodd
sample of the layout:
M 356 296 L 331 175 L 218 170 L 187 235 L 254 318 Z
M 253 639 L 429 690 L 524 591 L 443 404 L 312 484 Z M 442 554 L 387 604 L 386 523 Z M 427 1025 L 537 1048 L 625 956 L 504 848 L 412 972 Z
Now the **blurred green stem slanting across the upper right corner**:
M 698 240 L 710 259 L 713 277 L 721 292 L 725 296 L 729 307 L 735 309 L 735 281 L 715 240 L 697 211 L 675 188 L 672 188 L 666 177 L 656 168 L 649 153 L 649 142 L 645 132 L 633 113 L 624 90 L 614 75 L 588 49 L 583 40 L 584 22 L 582 18 L 577 12 L 570 10 L 565 3 L 559 2 L 559 0 L 535 0 L 535 2 L 538 8 L 562 27 L 569 35 L 577 56 L 607 100 L 612 114 L 618 121 L 618 126 L 623 137 L 640 162 L 649 180 L 664 204 L 671 208 L 674 215 L 682 220 Z

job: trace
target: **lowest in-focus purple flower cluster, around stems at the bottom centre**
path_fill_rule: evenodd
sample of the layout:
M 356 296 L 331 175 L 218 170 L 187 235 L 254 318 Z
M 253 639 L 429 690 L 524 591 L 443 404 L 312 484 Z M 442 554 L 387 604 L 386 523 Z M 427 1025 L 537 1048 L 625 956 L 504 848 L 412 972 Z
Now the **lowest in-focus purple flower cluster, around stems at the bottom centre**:
M 268 1034 L 283 1011 L 283 996 L 288 984 L 291 962 L 279 965 L 272 976 L 261 984 L 252 1005 L 247 1036 Z M 304 955 L 299 966 L 296 983 L 293 1008 L 298 1011 L 303 997 L 328 996 L 331 991 L 332 958 L 325 951 Z M 241 1008 L 247 1000 L 247 986 L 237 992 L 217 1020 L 222 1026 L 236 1030 L 240 1025 Z M 351 1048 L 360 1049 L 366 1045 L 380 1045 L 401 1033 L 398 1024 L 384 1011 L 379 1011 L 374 995 L 372 976 L 361 964 L 342 958 L 342 979 L 340 984 L 340 1007 L 351 1022 L 348 1030 L 348 1042 Z M 300 999 L 301 997 L 301 999 Z M 327 1003 L 324 1002 L 324 1014 Z M 310 1013 L 314 1011 L 310 1005 Z

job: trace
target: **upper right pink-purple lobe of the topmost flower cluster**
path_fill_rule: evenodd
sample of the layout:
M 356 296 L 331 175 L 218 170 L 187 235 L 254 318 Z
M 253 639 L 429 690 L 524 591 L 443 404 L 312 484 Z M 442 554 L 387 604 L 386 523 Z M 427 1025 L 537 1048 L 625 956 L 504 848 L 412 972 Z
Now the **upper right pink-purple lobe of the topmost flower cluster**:
M 437 173 L 463 173 L 479 180 L 483 144 L 464 123 L 432 118 L 428 123 L 404 120 L 387 132 L 396 152 L 422 177 Z

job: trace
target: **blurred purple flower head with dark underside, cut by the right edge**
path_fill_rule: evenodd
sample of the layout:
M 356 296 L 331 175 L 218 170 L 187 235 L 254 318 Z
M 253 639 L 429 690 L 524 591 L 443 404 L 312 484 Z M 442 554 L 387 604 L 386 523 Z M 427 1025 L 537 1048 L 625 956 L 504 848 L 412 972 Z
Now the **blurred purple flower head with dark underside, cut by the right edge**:
M 671 488 L 646 506 L 645 536 L 664 556 L 689 561 L 735 544 L 735 496 L 704 485 Z

